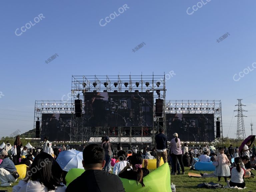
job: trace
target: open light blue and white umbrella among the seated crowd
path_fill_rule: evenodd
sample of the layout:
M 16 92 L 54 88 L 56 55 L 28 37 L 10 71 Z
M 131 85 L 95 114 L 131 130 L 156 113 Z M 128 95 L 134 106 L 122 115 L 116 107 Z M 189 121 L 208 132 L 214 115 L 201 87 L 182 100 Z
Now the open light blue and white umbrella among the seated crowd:
M 62 151 L 56 161 L 63 171 L 69 171 L 72 168 L 83 169 L 83 152 L 74 149 Z

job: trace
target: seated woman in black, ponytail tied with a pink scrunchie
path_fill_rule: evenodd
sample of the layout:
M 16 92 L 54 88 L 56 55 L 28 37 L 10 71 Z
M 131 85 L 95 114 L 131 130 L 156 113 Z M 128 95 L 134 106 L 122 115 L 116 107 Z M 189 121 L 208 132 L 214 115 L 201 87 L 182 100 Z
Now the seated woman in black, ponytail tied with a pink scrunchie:
M 129 163 L 118 174 L 119 177 L 124 179 L 136 180 L 137 184 L 141 183 L 142 187 L 145 187 L 143 183 L 143 177 L 149 174 L 147 169 L 148 160 L 144 159 L 144 168 L 142 168 L 143 158 L 140 154 L 134 154 L 129 157 Z M 128 171 L 132 167 L 132 170 Z

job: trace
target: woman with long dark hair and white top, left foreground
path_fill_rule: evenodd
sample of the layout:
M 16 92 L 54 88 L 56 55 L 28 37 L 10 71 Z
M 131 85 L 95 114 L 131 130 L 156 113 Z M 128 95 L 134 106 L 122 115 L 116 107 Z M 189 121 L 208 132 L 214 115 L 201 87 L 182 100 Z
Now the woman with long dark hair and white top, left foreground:
M 61 183 L 62 170 L 59 164 L 48 153 L 39 153 L 28 168 L 26 177 L 13 187 L 13 192 L 23 191 L 56 191 L 65 192 L 66 186 Z

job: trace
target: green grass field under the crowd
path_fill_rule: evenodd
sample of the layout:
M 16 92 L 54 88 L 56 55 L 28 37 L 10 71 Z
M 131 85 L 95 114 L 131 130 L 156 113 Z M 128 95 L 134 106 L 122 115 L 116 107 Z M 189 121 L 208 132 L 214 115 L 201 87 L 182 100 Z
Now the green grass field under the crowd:
M 220 192 L 220 191 L 237 191 L 237 189 L 199 189 L 197 188 L 197 184 L 199 183 L 204 183 L 204 182 L 214 182 L 217 183 L 218 182 L 218 178 L 197 178 L 197 177 L 189 177 L 188 176 L 188 172 L 192 172 L 192 173 L 197 173 L 200 174 L 200 171 L 190 171 L 189 167 L 185 167 L 185 175 L 171 175 L 171 183 L 173 183 L 174 185 L 176 185 L 176 191 L 177 192 L 209 192 L 209 191 L 214 191 L 214 192 Z M 151 171 L 151 170 L 150 170 Z M 203 171 L 201 171 L 203 172 Z M 210 173 L 210 172 L 208 172 Z M 256 173 L 256 171 L 254 171 L 254 173 Z M 246 187 L 247 189 L 243 189 L 243 192 L 256 192 L 256 185 L 255 185 L 255 179 L 247 179 L 245 178 L 245 183 L 246 183 Z M 229 178 L 228 178 L 229 180 Z M 17 185 L 19 182 L 19 180 L 17 180 L 14 185 Z M 221 184 L 222 185 L 226 185 L 225 181 L 224 181 L 224 177 L 221 178 Z M 0 187 L 0 190 L 7 190 L 8 192 L 12 192 L 12 187 Z M 240 191 L 240 190 L 239 190 Z M 163 191 L 164 192 L 164 191 Z

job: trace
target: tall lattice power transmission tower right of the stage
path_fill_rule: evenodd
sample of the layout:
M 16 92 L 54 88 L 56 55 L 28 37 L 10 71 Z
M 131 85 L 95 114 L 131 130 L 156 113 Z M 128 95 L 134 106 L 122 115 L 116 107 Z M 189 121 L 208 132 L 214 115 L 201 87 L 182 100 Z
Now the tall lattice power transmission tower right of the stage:
M 243 115 L 243 110 L 242 106 L 245 106 L 241 103 L 242 99 L 237 99 L 238 100 L 238 104 L 235 106 L 238 106 L 237 110 L 234 111 L 238 111 L 238 114 L 235 116 L 237 117 L 237 130 L 236 130 L 236 138 L 238 140 L 244 140 L 245 139 L 245 129 L 244 129 L 244 118 L 243 117 L 247 117 L 245 115 Z

